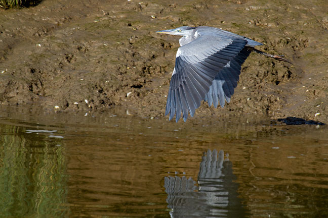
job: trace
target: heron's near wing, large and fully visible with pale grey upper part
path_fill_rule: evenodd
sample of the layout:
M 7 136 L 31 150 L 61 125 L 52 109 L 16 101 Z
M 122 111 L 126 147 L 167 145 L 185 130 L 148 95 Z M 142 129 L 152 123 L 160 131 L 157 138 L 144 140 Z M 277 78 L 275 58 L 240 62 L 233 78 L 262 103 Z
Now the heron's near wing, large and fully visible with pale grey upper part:
M 242 38 L 203 35 L 181 46 L 176 56 L 165 115 L 170 114 L 172 120 L 176 114 L 176 122 L 181 112 L 185 122 L 188 112 L 193 117 L 201 100 L 206 99 L 216 75 L 235 59 L 245 44 L 247 41 Z

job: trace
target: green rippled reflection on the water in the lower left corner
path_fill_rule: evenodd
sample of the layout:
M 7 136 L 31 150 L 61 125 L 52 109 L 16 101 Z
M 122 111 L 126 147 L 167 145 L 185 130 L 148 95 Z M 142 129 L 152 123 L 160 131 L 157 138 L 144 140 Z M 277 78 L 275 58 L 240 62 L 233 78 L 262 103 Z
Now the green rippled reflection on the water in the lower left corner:
M 0 133 L 0 217 L 67 216 L 63 147 L 23 127 L 0 124 Z

